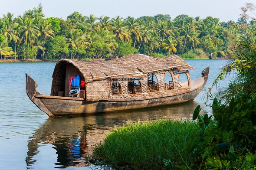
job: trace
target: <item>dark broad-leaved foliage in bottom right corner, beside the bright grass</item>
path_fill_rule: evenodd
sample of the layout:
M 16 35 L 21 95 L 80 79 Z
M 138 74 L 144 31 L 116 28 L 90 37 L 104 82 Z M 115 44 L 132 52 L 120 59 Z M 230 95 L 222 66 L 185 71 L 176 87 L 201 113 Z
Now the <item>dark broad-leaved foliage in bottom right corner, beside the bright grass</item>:
M 216 170 L 255 168 L 255 98 L 240 95 L 229 105 L 221 104 L 215 98 L 212 108 L 213 117 L 202 116 L 200 106 L 194 111 L 193 119 L 198 118 L 201 130 L 191 137 L 186 147 L 187 153 L 196 157 L 192 167 Z

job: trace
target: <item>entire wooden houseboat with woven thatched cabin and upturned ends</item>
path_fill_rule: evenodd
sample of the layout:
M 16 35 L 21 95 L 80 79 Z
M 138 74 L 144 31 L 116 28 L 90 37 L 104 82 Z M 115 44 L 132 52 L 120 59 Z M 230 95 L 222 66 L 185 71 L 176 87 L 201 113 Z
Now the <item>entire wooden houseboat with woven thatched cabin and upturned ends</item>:
M 49 117 L 122 111 L 179 104 L 193 100 L 207 82 L 209 67 L 190 80 L 188 65 L 179 56 L 163 59 L 131 54 L 118 59 L 56 63 L 50 95 L 37 92 L 26 74 L 26 92 Z

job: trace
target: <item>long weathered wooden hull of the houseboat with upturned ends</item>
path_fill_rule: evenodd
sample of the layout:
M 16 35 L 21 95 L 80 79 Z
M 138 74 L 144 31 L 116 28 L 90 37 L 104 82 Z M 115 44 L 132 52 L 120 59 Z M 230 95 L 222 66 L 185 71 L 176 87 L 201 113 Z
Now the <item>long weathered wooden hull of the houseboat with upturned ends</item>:
M 163 95 L 159 98 L 143 98 L 136 100 L 108 100 L 85 101 L 83 98 L 69 98 L 51 95 L 42 95 L 36 91 L 37 83 L 26 74 L 26 90 L 34 104 L 44 111 L 49 117 L 65 116 L 72 114 L 99 113 L 122 111 L 138 108 L 149 108 L 162 105 L 173 105 L 193 100 L 202 91 L 207 82 L 209 68 L 205 74 L 191 81 L 191 89 L 182 94 Z

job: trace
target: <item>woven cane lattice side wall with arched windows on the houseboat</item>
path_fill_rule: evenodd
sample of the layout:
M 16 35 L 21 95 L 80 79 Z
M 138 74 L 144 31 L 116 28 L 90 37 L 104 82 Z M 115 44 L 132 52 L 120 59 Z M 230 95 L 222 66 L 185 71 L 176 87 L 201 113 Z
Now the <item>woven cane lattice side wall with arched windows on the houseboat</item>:
M 190 89 L 190 72 L 183 71 L 182 74 L 187 76 L 188 86 L 181 88 L 178 80 L 181 72 L 169 70 L 167 72 L 155 72 L 148 76 L 144 75 L 140 78 L 109 78 L 100 81 L 89 82 L 86 85 L 86 100 L 108 100 L 108 99 L 136 99 L 147 97 L 161 97 L 164 95 L 176 95 Z M 154 78 L 153 78 L 153 77 Z M 172 79 L 172 89 L 167 89 L 166 79 Z M 149 80 L 155 81 L 158 84 L 157 92 L 149 92 Z M 169 85 L 170 86 L 170 85 Z M 115 89 L 115 90 L 114 90 Z

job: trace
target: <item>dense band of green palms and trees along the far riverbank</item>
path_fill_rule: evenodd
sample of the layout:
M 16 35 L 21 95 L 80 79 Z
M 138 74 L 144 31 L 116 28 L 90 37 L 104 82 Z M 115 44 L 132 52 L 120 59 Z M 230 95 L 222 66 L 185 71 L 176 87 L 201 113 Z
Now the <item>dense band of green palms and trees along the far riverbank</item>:
M 45 18 L 43 7 L 14 17 L 0 18 L 1 59 L 99 59 L 141 53 L 161 58 L 176 54 L 184 59 L 228 57 L 236 41 L 245 39 L 256 28 L 247 23 L 219 22 L 208 16 L 179 15 L 83 16 L 74 12 L 66 20 Z

